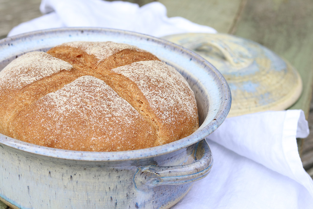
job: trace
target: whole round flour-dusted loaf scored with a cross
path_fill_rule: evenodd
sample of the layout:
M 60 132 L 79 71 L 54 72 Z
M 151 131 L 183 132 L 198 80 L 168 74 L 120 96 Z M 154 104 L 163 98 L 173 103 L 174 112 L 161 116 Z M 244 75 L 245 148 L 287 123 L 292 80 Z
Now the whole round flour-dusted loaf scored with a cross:
M 173 142 L 199 126 L 187 81 L 128 44 L 69 42 L 19 56 L 0 71 L 0 132 L 79 151 Z

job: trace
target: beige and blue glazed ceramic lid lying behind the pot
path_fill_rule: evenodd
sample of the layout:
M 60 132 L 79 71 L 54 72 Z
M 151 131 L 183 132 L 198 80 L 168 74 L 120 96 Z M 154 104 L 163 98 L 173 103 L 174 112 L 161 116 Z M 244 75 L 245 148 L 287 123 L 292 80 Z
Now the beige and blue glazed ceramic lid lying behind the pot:
M 299 73 L 256 42 L 229 34 L 186 33 L 163 38 L 197 52 L 222 73 L 232 93 L 228 117 L 284 110 L 300 97 Z

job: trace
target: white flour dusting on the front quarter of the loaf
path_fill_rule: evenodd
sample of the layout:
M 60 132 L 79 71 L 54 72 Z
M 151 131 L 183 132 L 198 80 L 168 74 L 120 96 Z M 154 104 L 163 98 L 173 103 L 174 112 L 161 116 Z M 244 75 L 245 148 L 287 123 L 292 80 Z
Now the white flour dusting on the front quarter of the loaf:
M 88 114 L 88 120 L 92 123 L 105 120 L 99 118 L 99 115 L 106 115 L 107 118 L 126 117 L 123 119 L 124 123 L 130 123 L 130 117 L 139 116 L 139 113 L 110 86 L 93 76 L 82 76 L 42 99 L 44 106 L 54 106 L 51 114 L 57 112 L 68 116 L 75 112 L 80 117 Z

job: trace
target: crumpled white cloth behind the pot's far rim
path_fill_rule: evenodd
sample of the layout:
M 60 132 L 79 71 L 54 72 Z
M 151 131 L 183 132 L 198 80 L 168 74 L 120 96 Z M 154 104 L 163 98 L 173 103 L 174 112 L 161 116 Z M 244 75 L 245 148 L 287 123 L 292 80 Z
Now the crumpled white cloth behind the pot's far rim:
M 163 4 L 138 4 L 101 0 L 43 0 L 40 11 L 45 14 L 13 28 L 8 36 L 60 27 L 103 27 L 134 31 L 161 37 L 186 32 L 216 33 L 216 30 L 192 23 L 182 17 L 167 17 Z

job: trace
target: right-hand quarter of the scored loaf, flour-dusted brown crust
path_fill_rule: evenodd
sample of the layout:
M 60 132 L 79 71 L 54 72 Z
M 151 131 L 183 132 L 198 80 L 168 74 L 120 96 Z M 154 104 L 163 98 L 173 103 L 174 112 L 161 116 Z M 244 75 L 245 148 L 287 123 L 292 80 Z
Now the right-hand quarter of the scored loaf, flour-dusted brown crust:
M 106 82 L 156 128 L 155 146 L 198 128 L 193 92 L 173 67 L 157 60 L 140 61 L 114 68 L 108 77 Z

